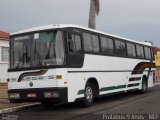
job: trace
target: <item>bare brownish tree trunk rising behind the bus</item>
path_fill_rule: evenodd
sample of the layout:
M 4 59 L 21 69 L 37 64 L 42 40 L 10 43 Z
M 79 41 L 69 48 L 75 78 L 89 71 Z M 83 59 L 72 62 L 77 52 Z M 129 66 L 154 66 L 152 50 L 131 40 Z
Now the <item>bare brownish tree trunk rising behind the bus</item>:
M 99 10 L 100 10 L 99 0 L 90 0 L 88 27 L 91 29 L 96 28 L 96 16 L 99 14 Z

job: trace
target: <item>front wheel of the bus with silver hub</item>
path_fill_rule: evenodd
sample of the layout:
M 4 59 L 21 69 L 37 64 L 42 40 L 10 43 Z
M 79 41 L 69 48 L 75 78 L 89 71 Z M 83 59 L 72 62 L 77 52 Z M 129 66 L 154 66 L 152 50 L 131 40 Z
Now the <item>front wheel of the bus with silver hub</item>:
M 87 82 L 84 92 L 83 106 L 89 107 L 93 105 L 95 99 L 95 89 L 92 83 Z

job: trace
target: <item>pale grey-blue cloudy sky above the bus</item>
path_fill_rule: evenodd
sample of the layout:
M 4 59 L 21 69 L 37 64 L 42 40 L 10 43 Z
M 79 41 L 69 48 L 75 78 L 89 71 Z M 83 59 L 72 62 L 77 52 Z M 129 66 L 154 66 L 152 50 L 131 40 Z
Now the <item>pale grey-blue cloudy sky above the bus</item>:
M 48 24 L 88 26 L 90 0 L 0 0 L 0 31 Z M 160 0 L 100 0 L 96 29 L 160 47 Z

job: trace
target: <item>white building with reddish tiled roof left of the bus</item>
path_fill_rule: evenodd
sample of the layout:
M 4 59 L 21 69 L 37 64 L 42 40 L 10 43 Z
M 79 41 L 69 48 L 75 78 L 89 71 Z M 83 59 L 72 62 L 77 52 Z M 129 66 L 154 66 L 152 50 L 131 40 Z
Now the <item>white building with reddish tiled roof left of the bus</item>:
M 9 33 L 0 31 L 0 82 L 7 82 Z

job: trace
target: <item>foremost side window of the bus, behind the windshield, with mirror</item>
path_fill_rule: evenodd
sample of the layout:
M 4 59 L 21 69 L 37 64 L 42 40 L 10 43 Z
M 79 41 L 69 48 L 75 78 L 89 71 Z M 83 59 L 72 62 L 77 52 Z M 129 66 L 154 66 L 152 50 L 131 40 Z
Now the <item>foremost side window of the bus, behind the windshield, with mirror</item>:
M 82 52 L 80 35 L 68 33 L 67 40 L 68 40 L 68 51 L 70 53 Z

